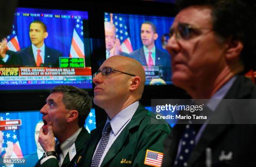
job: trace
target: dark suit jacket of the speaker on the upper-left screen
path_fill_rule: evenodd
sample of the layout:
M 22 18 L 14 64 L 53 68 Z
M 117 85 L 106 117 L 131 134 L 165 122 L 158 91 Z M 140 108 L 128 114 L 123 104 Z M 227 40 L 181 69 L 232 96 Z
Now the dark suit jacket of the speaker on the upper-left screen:
M 61 56 L 62 54 L 59 51 L 45 46 L 44 64 L 42 66 L 59 67 L 59 57 Z M 10 58 L 10 61 L 8 61 L 8 64 L 36 67 L 32 46 L 23 48 L 20 51 L 14 53 L 12 58 Z

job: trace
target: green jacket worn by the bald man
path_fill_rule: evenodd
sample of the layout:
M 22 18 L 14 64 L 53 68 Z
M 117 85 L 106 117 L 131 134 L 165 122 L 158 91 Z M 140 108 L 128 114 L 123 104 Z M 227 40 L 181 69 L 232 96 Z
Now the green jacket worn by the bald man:
M 151 124 L 151 119 L 157 121 L 158 124 Z M 87 149 L 83 167 L 90 167 L 104 126 L 105 122 L 92 130 L 90 147 Z M 101 167 L 145 166 L 146 150 L 162 152 L 163 141 L 170 131 L 169 124 L 156 120 L 155 115 L 140 104 L 131 121 L 108 150 Z M 130 163 L 122 163 L 124 159 Z

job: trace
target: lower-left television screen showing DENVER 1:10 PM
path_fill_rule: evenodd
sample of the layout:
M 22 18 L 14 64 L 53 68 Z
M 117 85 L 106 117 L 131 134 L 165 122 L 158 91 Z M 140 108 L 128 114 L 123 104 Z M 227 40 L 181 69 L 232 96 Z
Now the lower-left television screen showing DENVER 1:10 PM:
M 3 144 L 0 145 L 0 156 L 8 152 L 11 158 L 26 158 L 24 166 L 34 166 L 43 155 L 43 149 L 37 142 L 39 129 L 43 125 L 39 111 L 1 112 L 0 142 L 3 141 Z M 96 128 L 95 109 L 91 109 L 84 127 L 89 133 Z M 10 145 L 13 145 L 13 151 L 10 151 Z

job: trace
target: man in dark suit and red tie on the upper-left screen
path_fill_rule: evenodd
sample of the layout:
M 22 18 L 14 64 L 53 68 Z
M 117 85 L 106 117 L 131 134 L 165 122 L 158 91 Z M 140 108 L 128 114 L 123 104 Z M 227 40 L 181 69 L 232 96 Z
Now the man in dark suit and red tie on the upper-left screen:
M 48 37 L 46 25 L 34 20 L 29 26 L 29 37 L 32 45 L 16 52 L 8 64 L 30 67 L 59 67 L 62 54 L 44 44 Z

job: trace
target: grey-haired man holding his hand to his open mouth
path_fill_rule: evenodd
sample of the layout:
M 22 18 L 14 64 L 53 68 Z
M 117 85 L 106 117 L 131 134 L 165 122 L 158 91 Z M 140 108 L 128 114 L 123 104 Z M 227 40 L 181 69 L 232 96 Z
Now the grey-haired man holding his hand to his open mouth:
M 79 165 L 87 147 L 89 133 L 84 122 L 92 106 L 87 93 L 74 86 L 61 85 L 51 90 L 40 110 L 44 126 L 38 141 L 44 156 L 36 167 L 74 167 Z M 55 143 L 55 139 L 58 141 Z M 29 159 L 27 159 L 29 163 Z

